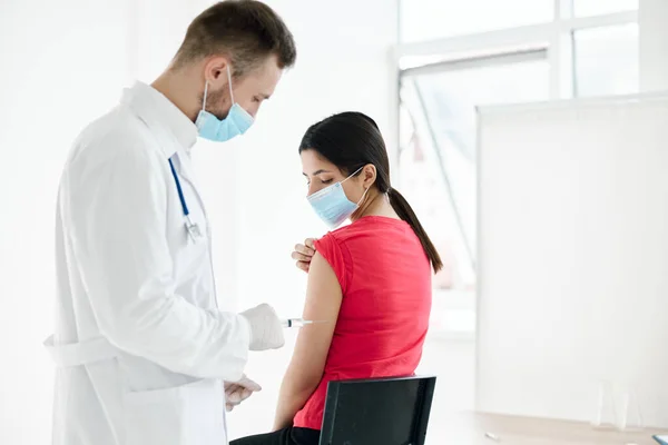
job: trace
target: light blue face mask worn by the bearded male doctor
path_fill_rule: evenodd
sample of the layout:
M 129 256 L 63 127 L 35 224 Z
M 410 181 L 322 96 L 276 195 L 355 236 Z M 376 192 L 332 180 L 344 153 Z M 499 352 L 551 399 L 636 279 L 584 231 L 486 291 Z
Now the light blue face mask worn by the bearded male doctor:
M 204 100 L 202 102 L 202 110 L 199 110 L 199 115 L 197 115 L 197 120 L 195 120 L 195 125 L 197 126 L 197 131 L 199 132 L 199 136 L 216 142 L 225 142 L 229 139 L 245 134 L 255 120 L 253 119 L 253 116 L 248 113 L 248 111 L 243 109 L 242 106 L 234 101 L 234 92 L 232 91 L 232 72 L 229 69 L 229 65 L 227 66 L 227 80 L 229 85 L 229 99 L 232 100 L 232 108 L 229 108 L 227 117 L 220 120 L 205 110 L 206 95 L 208 92 L 207 80 L 206 85 L 204 86 Z

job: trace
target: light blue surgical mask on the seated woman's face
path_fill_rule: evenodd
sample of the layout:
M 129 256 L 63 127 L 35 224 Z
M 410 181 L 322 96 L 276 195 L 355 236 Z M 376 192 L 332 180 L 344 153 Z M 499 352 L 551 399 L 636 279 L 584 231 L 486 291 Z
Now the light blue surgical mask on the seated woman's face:
M 360 202 L 362 202 L 364 196 L 366 196 L 369 189 L 364 190 L 362 198 L 360 198 L 360 202 L 355 204 L 345 196 L 345 191 L 343 190 L 343 182 L 355 176 L 362 168 L 363 167 L 360 167 L 354 174 L 341 182 L 333 184 L 306 197 L 317 216 L 320 216 L 331 229 L 335 229 L 350 218 L 360 207 Z

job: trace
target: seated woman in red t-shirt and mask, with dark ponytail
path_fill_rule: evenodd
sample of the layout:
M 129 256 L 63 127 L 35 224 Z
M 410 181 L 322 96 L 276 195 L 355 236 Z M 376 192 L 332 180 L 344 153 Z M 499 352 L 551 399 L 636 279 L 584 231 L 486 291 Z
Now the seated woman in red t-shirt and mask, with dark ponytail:
M 317 445 L 330 380 L 410 376 L 422 355 L 431 268 L 441 258 L 391 187 L 383 137 L 357 112 L 312 126 L 299 146 L 308 202 L 332 229 L 315 241 L 304 318 L 274 432 L 232 445 Z

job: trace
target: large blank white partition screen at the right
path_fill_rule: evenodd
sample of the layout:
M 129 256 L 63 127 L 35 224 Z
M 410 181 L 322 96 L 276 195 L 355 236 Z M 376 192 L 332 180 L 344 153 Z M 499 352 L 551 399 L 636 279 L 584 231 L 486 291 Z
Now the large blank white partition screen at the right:
M 479 126 L 478 408 L 592 421 L 609 382 L 668 427 L 668 96 Z

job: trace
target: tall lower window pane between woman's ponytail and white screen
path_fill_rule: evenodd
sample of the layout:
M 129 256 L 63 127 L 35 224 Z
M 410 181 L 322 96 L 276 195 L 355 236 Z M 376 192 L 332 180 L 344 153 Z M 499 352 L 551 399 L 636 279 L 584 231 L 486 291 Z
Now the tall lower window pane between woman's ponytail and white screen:
M 544 51 L 495 59 L 402 78 L 400 187 L 444 263 L 433 280 L 434 329 L 475 326 L 475 106 L 549 98 Z

